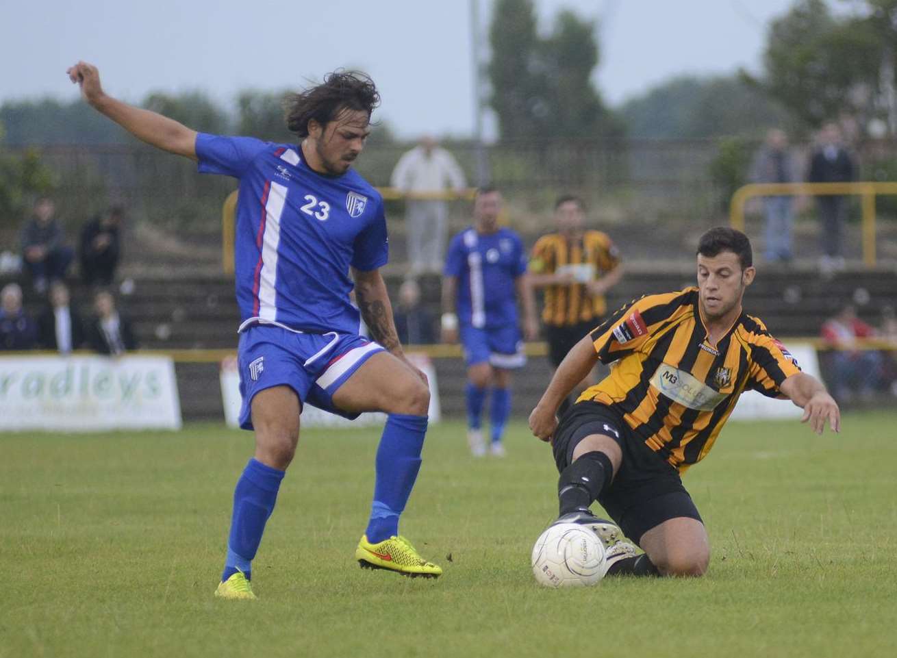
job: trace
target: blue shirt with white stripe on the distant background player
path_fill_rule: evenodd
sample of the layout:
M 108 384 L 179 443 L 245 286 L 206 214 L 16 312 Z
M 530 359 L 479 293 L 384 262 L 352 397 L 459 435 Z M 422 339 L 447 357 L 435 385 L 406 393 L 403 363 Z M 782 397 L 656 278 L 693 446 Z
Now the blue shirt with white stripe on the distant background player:
M 526 271 L 527 253 L 513 230 L 458 233 L 448 244 L 445 266 L 446 276 L 457 277 L 458 320 L 486 329 L 516 325 L 514 281 Z

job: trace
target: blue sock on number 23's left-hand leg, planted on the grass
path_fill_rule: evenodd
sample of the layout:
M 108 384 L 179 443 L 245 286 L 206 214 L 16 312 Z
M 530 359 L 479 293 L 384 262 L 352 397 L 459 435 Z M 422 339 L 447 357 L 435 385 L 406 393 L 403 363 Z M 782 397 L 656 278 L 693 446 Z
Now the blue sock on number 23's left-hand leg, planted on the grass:
M 222 582 L 237 571 L 242 571 L 247 578 L 252 577 L 252 558 L 256 557 L 265 523 L 274 511 L 282 480 L 283 471 L 255 459 L 250 459 L 243 469 L 233 491 L 231 536 L 227 542 Z

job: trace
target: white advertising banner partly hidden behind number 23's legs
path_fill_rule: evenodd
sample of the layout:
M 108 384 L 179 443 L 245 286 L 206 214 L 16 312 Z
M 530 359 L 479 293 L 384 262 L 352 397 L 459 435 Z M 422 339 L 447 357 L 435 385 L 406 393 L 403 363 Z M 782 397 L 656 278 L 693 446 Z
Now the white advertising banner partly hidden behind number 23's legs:
M 430 423 L 440 421 L 440 394 L 436 384 L 436 370 L 430 357 L 426 354 L 407 354 L 408 360 L 421 368 L 430 382 Z M 239 394 L 239 372 L 237 359 L 225 359 L 221 368 L 222 402 L 224 403 L 224 420 L 231 428 L 239 427 L 239 408 L 243 403 Z M 362 413 L 355 420 L 322 411 L 318 407 L 306 404 L 302 409 L 303 428 L 357 428 L 362 426 L 382 425 L 387 417 L 384 413 Z

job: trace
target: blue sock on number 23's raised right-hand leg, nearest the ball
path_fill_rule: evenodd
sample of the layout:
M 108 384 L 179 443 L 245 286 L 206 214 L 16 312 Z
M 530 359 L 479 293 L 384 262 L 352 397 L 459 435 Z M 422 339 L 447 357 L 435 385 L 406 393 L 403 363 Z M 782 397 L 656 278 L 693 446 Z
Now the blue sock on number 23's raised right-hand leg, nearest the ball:
M 398 517 L 411 496 L 417 472 L 421 470 L 426 416 L 390 413 L 377 448 L 377 477 L 370 522 L 365 534 L 376 544 L 398 534 Z

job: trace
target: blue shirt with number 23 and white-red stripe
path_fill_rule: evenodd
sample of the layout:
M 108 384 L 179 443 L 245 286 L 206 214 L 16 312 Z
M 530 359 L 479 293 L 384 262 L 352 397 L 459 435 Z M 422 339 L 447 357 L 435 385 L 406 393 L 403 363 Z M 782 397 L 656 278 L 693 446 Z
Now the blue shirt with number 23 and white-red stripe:
M 349 268 L 388 261 L 383 199 L 353 169 L 324 176 L 299 146 L 196 136 L 201 173 L 239 178 L 234 266 L 243 325 L 358 333 Z

